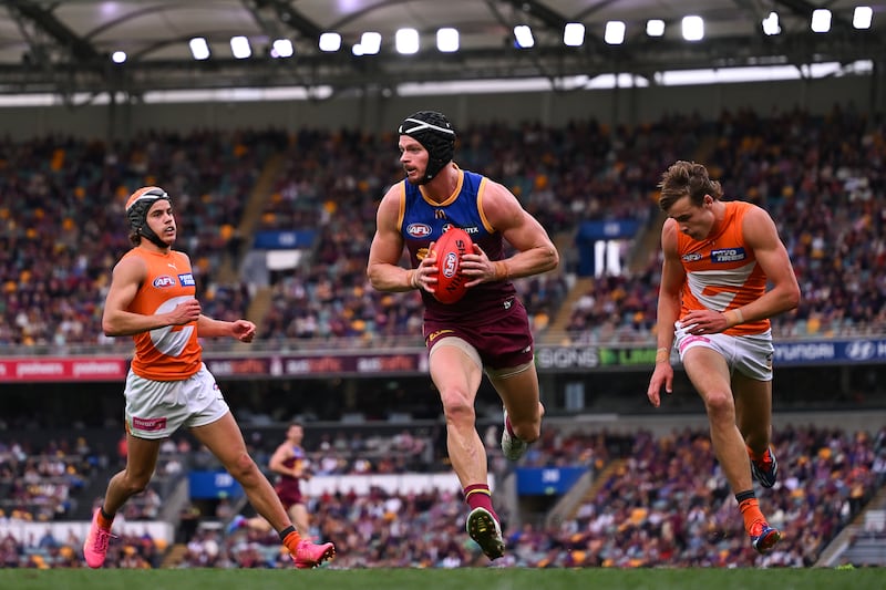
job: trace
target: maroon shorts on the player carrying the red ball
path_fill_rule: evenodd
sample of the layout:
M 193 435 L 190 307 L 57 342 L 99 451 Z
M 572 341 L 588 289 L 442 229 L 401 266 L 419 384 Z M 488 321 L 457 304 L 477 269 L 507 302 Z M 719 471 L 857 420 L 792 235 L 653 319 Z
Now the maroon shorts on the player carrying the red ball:
M 427 350 L 441 339 L 461 338 L 480 353 L 483 366 L 501 370 L 512 369 L 533 361 L 533 333 L 526 308 L 518 299 L 508 299 L 509 304 L 501 311 L 487 313 L 483 321 L 453 322 L 435 320 L 425 314 L 424 343 Z

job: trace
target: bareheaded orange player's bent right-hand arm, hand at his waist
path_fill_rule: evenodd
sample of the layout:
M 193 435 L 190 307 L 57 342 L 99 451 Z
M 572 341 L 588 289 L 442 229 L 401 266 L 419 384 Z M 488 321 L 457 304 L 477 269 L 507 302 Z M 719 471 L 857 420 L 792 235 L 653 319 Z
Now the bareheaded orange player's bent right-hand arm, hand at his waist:
M 764 209 L 752 208 L 744 216 L 742 234 L 772 287 L 761 298 L 739 308 L 738 314 L 730 313 L 730 327 L 742 323 L 735 315 L 744 322 L 763 320 L 790 311 L 800 303 L 800 284 L 772 217 Z

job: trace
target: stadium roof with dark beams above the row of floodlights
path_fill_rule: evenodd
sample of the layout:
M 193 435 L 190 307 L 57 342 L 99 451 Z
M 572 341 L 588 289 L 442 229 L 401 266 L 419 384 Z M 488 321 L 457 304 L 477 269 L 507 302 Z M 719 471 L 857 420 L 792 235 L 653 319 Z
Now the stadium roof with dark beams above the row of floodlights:
M 849 64 L 886 55 L 886 2 L 868 2 L 873 25 L 853 25 L 857 1 L 831 0 L 17 0 L 0 8 L 0 94 L 140 96 L 156 90 L 299 86 L 350 92 L 396 92 L 406 82 L 548 79 L 761 64 Z M 814 9 L 832 11 L 831 30 L 813 32 Z M 780 34 L 762 22 L 779 15 Z M 686 41 L 686 15 L 704 20 L 704 38 Z M 664 23 L 661 37 L 647 21 Z M 625 23 L 625 40 L 604 40 L 606 23 Z M 564 43 L 567 23 L 580 23 L 581 43 Z M 514 28 L 528 25 L 534 45 L 521 48 Z M 401 28 L 418 32 L 416 53 L 400 54 Z M 459 31 L 459 49 L 437 49 L 437 31 Z M 579 28 L 580 29 L 580 28 Z M 324 52 L 324 32 L 341 48 Z M 370 53 L 379 33 L 381 46 Z M 251 55 L 237 59 L 231 38 L 245 37 Z M 206 40 L 195 60 L 190 39 Z M 272 58 L 275 40 L 293 54 Z M 286 42 L 278 46 L 286 53 Z M 115 52 L 125 61 L 115 63 Z M 363 53 L 363 54 L 360 54 Z M 117 53 L 117 56 L 122 55 Z

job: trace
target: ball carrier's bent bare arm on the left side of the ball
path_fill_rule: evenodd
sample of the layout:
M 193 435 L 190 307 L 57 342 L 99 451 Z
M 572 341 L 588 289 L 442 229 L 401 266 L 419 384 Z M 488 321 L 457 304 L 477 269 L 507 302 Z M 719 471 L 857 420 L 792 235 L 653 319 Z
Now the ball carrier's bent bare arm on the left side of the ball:
M 405 269 L 399 265 L 403 255 L 403 236 L 396 227 L 400 219 L 400 200 L 403 187 L 392 186 L 381 199 L 375 214 L 375 236 L 369 248 L 367 277 L 379 291 L 411 291 L 420 286 L 421 269 L 425 261 L 433 262 L 429 255 L 419 269 Z M 429 260 L 431 259 L 431 260 Z

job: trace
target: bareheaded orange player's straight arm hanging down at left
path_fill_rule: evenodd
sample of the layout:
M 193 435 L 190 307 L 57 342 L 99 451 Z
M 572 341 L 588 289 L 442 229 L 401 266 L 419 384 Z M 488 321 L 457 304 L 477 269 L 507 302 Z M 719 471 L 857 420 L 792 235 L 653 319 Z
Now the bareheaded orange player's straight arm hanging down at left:
M 673 346 L 673 322 L 680 318 L 680 290 L 686 281 L 686 270 L 677 252 L 677 224 L 667 219 L 661 228 L 661 284 L 658 293 L 658 311 L 656 314 L 656 333 L 658 351 L 656 369 L 649 380 L 647 396 L 653 406 L 661 403 L 661 387 L 673 391 L 673 368 L 670 363 Z

